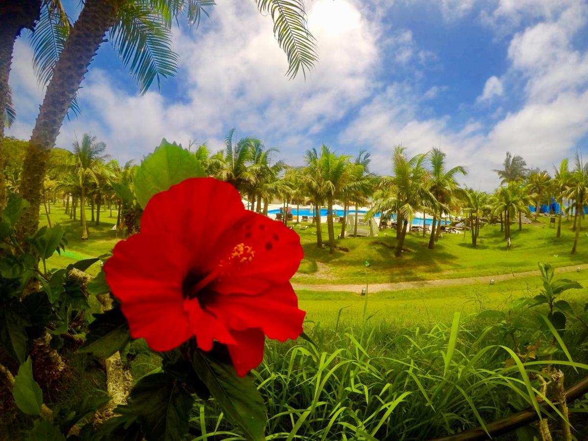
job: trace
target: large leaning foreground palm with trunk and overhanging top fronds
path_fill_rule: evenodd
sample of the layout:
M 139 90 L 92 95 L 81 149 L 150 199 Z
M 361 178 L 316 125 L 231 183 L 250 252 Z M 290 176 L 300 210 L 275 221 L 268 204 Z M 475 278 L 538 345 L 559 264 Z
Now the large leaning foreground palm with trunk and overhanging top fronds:
M 302 0 L 258 0 L 262 14 L 272 17 L 278 44 L 288 58 L 288 74 L 306 75 L 317 59 L 312 34 L 306 28 Z M 141 93 L 157 79 L 173 76 L 178 56 L 172 51 L 171 25 L 183 12 L 198 24 L 205 6 L 202 0 L 86 0 L 71 32 L 63 35 L 54 66 L 45 81 L 45 98 L 32 131 L 23 170 L 22 196 L 30 203 L 21 217 L 18 232 L 22 243 L 36 231 L 41 185 L 48 153 L 88 71 L 96 51 L 106 41 L 106 32 L 123 65 L 139 85 Z M 41 39 L 42 41 L 42 39 Z M 66 44 L 65 44 L 66 42 Z

